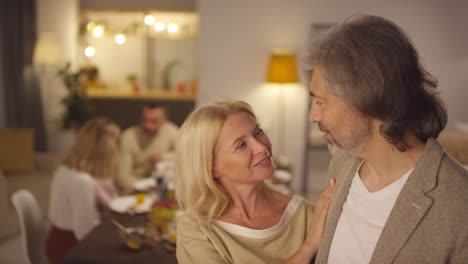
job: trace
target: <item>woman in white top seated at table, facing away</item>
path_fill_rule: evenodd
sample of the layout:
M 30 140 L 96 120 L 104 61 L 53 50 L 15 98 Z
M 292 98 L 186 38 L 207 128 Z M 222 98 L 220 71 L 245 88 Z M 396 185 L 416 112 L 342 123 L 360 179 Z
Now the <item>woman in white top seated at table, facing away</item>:
M 97 117 L 80 130 L 76 142 L 51 184 L 47 253 L 51 263 L 62 263 L 66 251 L 100 222 L 99 208 L 117 193 L 116 174 L 119 127 Z

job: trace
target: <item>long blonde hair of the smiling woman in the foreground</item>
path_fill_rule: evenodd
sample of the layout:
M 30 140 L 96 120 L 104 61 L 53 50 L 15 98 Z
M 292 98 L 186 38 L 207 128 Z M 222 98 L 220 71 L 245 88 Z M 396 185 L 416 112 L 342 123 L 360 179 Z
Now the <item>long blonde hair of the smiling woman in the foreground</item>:
M 176 150 L 176 197 L 179 206 L 200 224 L 221 215 L 230 198 L 213 177 L 215 147 L 226 119 L 252 108 L 242 101 L 220 101 L 192 112 L 179 131 Z

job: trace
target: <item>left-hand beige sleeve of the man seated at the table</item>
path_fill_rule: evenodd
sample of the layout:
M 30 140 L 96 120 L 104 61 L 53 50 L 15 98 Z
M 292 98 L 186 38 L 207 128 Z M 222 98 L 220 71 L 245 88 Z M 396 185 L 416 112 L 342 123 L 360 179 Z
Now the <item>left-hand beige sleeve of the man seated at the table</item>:
M 132 146 L 129 136 L 129 134 L 123 134 L 120 141 L 117 185 L 123 193 L 130 193 L 133 191 L 133 183 L 137 180 L 132 172 Z

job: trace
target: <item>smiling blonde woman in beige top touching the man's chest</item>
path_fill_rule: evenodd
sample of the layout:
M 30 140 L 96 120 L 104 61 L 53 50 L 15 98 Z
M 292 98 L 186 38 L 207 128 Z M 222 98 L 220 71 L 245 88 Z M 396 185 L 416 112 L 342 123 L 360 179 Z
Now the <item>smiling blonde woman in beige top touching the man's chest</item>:
M 180 263 L 309 263 L 334 182 L 315 213 L 298 196 L 269 188 L 271 144 L 251 107 L 223 101 L 194 111 L 176 151 Z

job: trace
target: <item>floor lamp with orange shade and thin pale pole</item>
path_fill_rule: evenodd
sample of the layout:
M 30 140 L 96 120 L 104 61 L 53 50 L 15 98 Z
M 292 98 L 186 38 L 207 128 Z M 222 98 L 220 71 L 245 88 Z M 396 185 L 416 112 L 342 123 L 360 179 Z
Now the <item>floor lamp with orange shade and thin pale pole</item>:
M 284 88 L 287 84 L 297 83 L 296 55 L 291 50 L 278 49 L 273 50 L 270 55 L 268 66 L 267 82 L 276 84 L 279 87 L 278 93 L 278 117 L 280 119 L 279 139 L 280 153 L 285 154 L 284 149 Z M 281 163 L 281 160 L 280 160 Z

